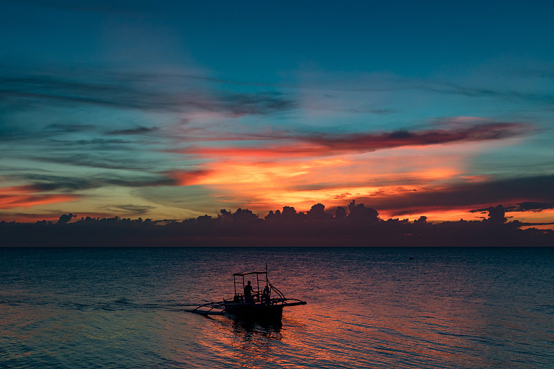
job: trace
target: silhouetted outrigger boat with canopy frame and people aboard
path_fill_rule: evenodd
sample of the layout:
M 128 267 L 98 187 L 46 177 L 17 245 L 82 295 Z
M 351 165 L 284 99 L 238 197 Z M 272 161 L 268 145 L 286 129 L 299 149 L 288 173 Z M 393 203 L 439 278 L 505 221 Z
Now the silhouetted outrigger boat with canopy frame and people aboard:
M 254 280 L 254 277 L 256 277 L 256 280 Z M 246 296 L 244 287 L 247 287 L 247 284 L 244 281 L 249 279 L 254 280 L 256 285 L 253 285 L 253 287 L 258 287 L 258 290 L 253 291 L 251 296 Z M 264 288 L 261 293 L 260 282 L 265 282 L 265 286 L 269 287 Z M 303 300 L 286 298 L 277 287 L 271 285 L 267 278 L 267 267 L 266 271 L 234 273 L 233 285 L 235 296 L 230 300 L 223 299 L 219 302 L 205 303 L 187 311 L 202 315 L 231 314 L 240 318 L 280 321 L 283 317 L 283 307 L 306 305 Z

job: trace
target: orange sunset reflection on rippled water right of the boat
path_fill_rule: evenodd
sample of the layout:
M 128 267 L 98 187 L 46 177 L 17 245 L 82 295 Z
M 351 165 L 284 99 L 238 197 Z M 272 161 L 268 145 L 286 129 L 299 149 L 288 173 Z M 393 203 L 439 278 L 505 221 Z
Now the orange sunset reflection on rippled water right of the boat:
M 288 349 L 305 355 L 301 359 L 307 361 L 318 358 L 314 367 L 333 363 L 356 368 L 382 368 L 384 364 L 419 368 L 479 361 L 467 357 L 467 351 L 461 354 L 472 350 L 474 318 L 465 316 L 473 305 L 426 296 L 425 291 L 414 301 L 413 291 L 398 291 L 395 280 L 375 287 L 378 290 L 368 289 L 369 298 L 357 298 L 353 291 L 328 291 L 332 301 L 314 301 L 286 312 L 283 336 Z M 303 324 L 287 332 L 289 321 Z

